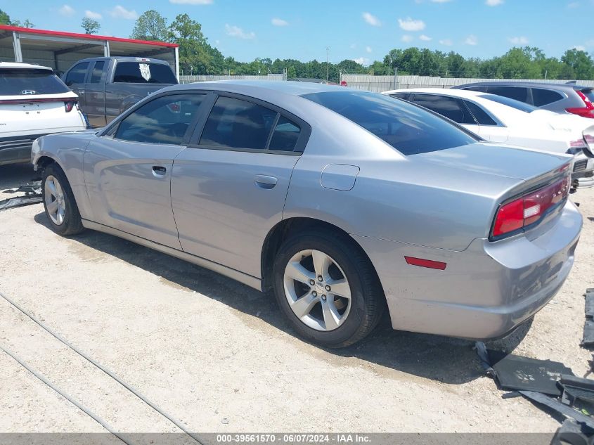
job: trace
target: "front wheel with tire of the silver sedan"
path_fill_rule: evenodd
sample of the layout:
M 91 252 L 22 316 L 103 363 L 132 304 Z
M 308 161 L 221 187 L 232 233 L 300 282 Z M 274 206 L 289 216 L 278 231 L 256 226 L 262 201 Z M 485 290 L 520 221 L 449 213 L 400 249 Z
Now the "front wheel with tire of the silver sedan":
M 46 217 L 54 232 L 75 235 L 84 230 L 72 188 L 58 165 L 50 164 L 44 169 L 41 192 Z

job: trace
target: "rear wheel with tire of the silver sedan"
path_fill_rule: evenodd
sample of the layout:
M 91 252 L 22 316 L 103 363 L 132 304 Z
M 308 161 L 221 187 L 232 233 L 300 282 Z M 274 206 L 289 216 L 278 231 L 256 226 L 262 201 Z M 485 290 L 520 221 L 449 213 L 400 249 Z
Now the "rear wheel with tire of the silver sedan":
M 273 274 L 280 309 L 302 337 L 325 347 L 366 337 L 385 307 L 369 259 L 342 234 L 311 231 L 286 240 Z

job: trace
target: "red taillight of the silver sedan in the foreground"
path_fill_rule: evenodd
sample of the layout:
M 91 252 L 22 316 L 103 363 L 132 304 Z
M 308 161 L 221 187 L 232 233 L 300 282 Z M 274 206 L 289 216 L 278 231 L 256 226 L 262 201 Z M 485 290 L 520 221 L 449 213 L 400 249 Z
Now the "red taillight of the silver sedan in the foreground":
M 551 207 L 569 195 L 571 176 L 566 176 L 550 186 L 539 188 L 537 191 L 508 202 L 499 207 L 491 236 L 497 238 L 535 224 Z

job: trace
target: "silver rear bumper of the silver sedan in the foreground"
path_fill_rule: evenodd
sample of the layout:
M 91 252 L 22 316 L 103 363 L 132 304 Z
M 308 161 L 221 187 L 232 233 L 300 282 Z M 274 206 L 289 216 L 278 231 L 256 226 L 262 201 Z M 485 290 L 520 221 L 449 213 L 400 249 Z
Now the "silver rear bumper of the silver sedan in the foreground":
M 581 214 L 568 202 L 538 238 L 477 239 L 463 252 L 354 238 L 376 266 L 394 329 L 489 340 L 536 314 L 560 290 L 581 225 Z M 405 255 L 447 266 L 409 266 Z

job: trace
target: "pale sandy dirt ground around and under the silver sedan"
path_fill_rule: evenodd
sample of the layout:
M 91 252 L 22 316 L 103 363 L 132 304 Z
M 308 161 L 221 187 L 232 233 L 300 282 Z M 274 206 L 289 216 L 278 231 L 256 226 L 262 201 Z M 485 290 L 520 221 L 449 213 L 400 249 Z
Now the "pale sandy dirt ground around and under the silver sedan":
M 0 167 L 0 190 L 34 177 Z M 0 193 L 0 199 L 6 195 Z M 583 233 L 560 293 L 496 347 L 588 372 L 594 188 L 572 195 Z M 42 205 L 0 212 L 0 292 L 195 432 L 553 432 L 559 423 L 482 375 L 472 344 L 393 331 L 307 344 L 269 295 L 113 236 L 54 234 Z M 177 427 L 0 299 L 0 346 L 121 432 Z M 101 432 L 0 350 L 0 432 Z

